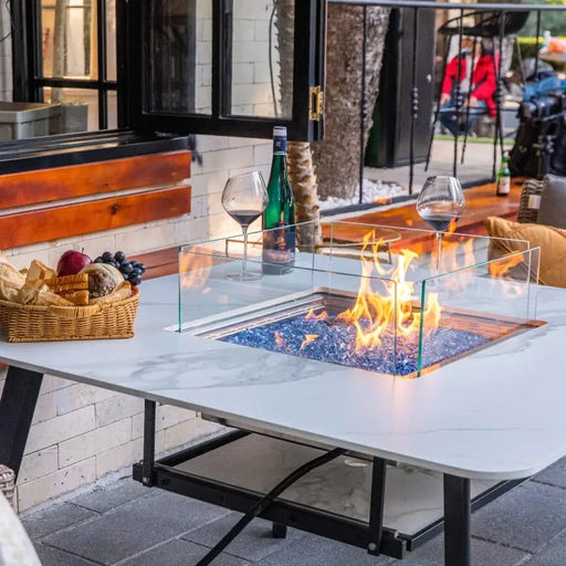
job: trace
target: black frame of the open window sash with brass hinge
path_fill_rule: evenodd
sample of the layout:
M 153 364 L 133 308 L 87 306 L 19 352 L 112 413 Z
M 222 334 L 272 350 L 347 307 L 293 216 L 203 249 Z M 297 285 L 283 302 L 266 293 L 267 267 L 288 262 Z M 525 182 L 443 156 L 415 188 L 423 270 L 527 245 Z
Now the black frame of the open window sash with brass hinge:
M 151 0 L 129 0 L 123 17 L 127 29 L 128 126 L 139 132 L 210 134 L 270 138 L 274 125 L 287 127 L 290 139 L 312 142 L 323 136 L 324 123 L 312 119 L 316 104 L 312 87 L 324 85 L 324 41 L 326 0 L 295 1 L 293 109 L 292 118 L 231 116 L 231 4 L 232 0 L 212 1 L 212 113 L 179 115 L 149 113 L 150 83 L 147 77 L 149 41 L 147 29 Z M 140 53 L 142 46 L 142 53 Z M 311 111 L 311 112 L 310 112 Z

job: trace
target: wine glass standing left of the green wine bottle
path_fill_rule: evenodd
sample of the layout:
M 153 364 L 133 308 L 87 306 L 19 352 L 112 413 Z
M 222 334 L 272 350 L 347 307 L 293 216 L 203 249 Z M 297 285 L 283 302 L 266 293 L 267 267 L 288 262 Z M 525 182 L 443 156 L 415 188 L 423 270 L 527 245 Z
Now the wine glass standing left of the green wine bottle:
M 261 171 L 243 172 L 230 177 L 222 192 L 224 210 L 242 227 L 243 259 L 240 273 L 230 273 L 229 279 L 253 281 L 261 273 L 248 271 L 248 228 L 261 216 L 269 203 L 268 189 Z

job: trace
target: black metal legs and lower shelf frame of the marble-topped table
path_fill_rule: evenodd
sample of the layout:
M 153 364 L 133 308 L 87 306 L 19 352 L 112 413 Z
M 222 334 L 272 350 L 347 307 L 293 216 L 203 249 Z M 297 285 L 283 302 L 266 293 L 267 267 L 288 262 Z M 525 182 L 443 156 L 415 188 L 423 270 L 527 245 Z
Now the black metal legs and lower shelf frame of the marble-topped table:
M 17 475 L 42 380 L 43 374 L 41 373 L 15 366 L 8 368 L 0 397 L 0 431 L 2 431 L 0 434 L 0 463 L 11 468 Z M 135 480 L 146 486 L 158 486 L 240 512 L 245 512 L 261 499 L 261 494 L 197 478 L 174 468 L 180 462 L 242 438 L 249 432 L 235 430 L 156 461 L 155 413 L 156 401 L 146 399 L 144 459 L 140 463 L 134 464 Z M 471 566 L 470 520 L 472 511 L 523 481 L 501 482 L 472 501 L 470 480 L 444 473 L 444 518 L 432 523 L 416 535 L 407 536 L 384 526 L 386 461 L 381 458 L 373 458 L 373 464 L 369 523 L 283 500 L 275 500 L 260 516 L 273 522 L 274 536 L 284 536 L 289 525 L 366 548 L 373 555 L 385 554 L 396 558 L 402 558 L 406 551 L 415 549 L 443 528 L 444 566 Z

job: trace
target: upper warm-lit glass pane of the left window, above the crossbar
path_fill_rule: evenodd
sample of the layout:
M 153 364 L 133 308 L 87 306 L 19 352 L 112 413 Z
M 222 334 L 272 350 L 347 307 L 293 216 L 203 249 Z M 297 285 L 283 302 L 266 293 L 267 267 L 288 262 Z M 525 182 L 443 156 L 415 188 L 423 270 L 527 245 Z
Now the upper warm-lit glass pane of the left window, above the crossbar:
M 96 0 L 41 0 L 43 76 L 97 78 Z

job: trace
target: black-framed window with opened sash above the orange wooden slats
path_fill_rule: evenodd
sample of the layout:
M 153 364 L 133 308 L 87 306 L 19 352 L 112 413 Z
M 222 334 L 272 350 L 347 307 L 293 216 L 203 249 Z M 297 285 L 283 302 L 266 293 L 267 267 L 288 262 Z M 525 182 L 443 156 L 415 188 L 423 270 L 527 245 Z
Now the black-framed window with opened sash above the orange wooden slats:
M 82 108 L 91 130 L 322 137 L 325 0 L 13 4 L 17 101 Z

